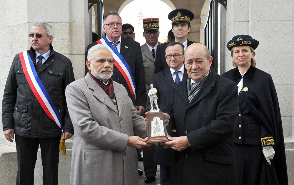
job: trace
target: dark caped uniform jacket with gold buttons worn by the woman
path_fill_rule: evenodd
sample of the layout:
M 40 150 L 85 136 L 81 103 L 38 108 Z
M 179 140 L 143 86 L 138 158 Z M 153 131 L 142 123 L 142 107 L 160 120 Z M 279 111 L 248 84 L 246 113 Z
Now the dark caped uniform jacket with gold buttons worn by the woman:
M 238 68 L 223 74 L 238 84 L 242 76 Z M 253 65 L 243 75 L 243 88 L 239 94 L 238 119 L 235 124 L 234 141 L 237 144 L 268 144 L 266 137 L 273 137 L 275 157 L 271 166 L 264 159 L 262 179 L 267 176 L 271 184 L 288 184 L 285 146 L 278 96 L 270 74 Z M 241 137 L 241 139 L 239 139 Z M 262 141 L 263 140 L 263 141 Z M 263 142 L 263 143 L 262 143 Z

